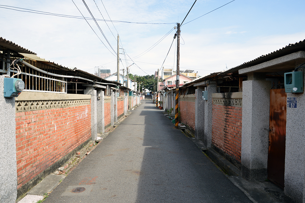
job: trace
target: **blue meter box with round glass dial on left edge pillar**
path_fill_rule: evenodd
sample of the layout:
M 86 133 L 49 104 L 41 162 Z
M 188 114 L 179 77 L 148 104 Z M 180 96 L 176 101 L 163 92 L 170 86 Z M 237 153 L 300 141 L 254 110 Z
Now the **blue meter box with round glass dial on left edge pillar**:
M 25 84 L 18 78 L 4 78 L 4 97 L 17 97 L 25 88 Z

